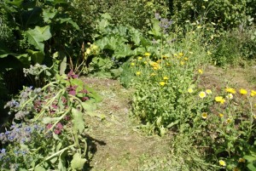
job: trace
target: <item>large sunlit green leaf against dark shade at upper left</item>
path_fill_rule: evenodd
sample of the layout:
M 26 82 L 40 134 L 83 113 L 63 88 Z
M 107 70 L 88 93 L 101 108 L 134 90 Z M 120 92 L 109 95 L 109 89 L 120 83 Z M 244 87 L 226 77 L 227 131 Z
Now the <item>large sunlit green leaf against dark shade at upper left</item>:
M 28 43 L 34 45 L 35 48 L 44 53 L 44 41 L 51 37 L 49 26 L 36 26 L 33 30 L 25 31 Z

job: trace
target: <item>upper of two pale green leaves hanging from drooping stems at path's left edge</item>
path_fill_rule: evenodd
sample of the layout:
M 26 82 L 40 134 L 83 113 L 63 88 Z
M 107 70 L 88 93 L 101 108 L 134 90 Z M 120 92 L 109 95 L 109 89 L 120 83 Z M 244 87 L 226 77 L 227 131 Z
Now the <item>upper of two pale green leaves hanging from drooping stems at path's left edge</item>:
M 79 133 L 83 133 L 85 128 L 83 113 L 78 111 L 76 108 L 72 108 L 72 114 L 73 129 L 79 131 Z

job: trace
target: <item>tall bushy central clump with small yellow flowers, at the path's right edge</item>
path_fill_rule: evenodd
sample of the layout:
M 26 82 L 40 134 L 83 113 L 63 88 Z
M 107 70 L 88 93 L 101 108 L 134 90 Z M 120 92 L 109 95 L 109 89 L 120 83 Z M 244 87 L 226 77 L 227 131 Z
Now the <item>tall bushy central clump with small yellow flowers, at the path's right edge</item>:
M 188 89 L 195 87 L 195 77 L 200 75 L 197 67 L 207 58 L 207 52 L 193 48 L 201 43 L 196 42 L 200 38 L 193 31 L 177 40 L 172 33 L 166 34 L 171 24 L 156 14 L 149 31 L 154 41 L 146 47 L 148 52 L 127 62 L 120 78 L 126 86 L 137 88 L 133 113 L 142 119 L 149 133 L 156 130 L 165 134 L 166 128 L 178 128 L 191 111 L 206 108 L 189 98 Z

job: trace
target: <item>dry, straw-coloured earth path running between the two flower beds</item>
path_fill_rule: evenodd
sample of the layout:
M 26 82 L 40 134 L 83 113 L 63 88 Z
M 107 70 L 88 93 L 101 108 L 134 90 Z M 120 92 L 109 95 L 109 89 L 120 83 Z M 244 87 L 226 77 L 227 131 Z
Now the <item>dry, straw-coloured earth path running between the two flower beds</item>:
M 90 135 L 88 170 L 139 170 L 144 156 L 166 155 L 170 138 L 145 136 L 129 117 L 131 89 L 110 79 L 84 78 L 84 82 L 103 97 L 95 111 L 99 117 L 86 117 Z

